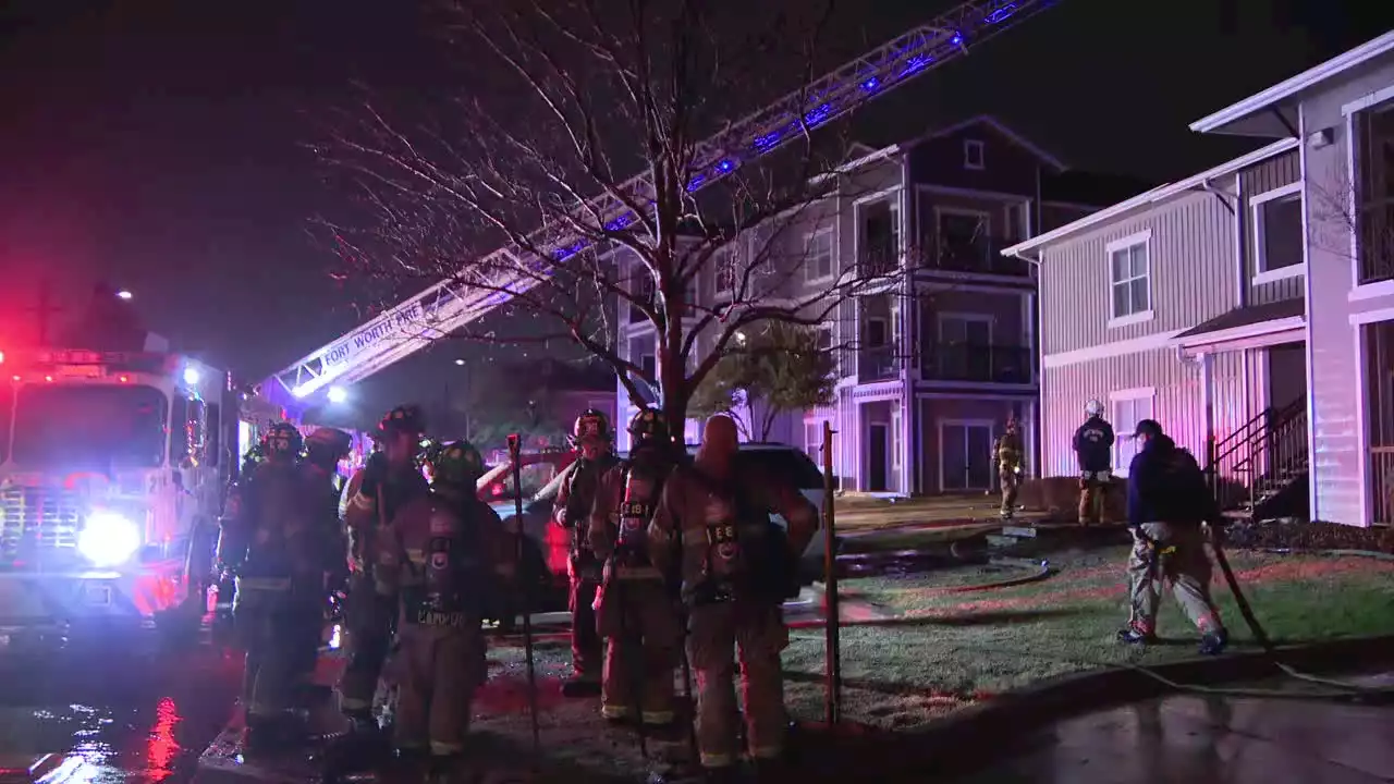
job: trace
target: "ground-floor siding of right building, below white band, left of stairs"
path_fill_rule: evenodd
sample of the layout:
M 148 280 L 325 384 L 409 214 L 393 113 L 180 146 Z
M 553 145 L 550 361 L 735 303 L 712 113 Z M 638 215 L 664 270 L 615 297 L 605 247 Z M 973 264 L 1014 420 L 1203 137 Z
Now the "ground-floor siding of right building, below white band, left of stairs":
M 1255 370 L 1257 368 L 1257 370 Z M 1234 432 L 1253 416 L 1252 391 L 1242 353 L 1216 354 L 1211 364 L 1211 412 L 1216 439 Z M 1249 374 L 1262 364 L 1249 363 Z M 1041 371 L 1041 462 L 1043 476 L 1078 473 L 1072 439 L 1085 421 L 1085 405 L 1097 399 L 1112 417 L 1110 396 L 1124 389 L 1151 388 L 1151 416 L 1178 445 L 1206 459 L 1204 398 L 1200 367 L 1177 359 L 1170 349 L 1139 352 Z M 1135 421 L 1114 421 L 1118 435 L 1131 434 Z M 1126 466 L 1114 466 L 1125 469 Z

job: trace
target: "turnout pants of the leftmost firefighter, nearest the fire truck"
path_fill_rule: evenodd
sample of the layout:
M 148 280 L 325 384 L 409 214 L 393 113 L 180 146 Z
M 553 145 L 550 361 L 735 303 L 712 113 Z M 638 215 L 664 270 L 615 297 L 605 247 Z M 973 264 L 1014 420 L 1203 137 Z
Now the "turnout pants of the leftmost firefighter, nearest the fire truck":
M 243 700 L 250 720 L 275 718 L 296 707 L 305 657 L 315 656 L 322 631 L 316 597 L 293 591 L 290 580 L 258 582 L 240 580 L 233 607 L 233 624 L 247 649 Z

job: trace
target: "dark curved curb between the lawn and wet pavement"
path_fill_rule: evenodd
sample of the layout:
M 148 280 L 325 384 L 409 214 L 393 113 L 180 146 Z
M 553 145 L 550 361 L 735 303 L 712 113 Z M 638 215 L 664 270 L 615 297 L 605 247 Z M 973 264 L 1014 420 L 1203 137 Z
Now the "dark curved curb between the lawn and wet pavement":
M 1394 635 L 1284 646 L 1276 653 L 1284 664 L 1322 668 L 1333 664 L 1359 667 L 1388 661 L 1390 650 L 1394 650 Z M 1146 671 L 1115 667 L 1078 672 L 998 695 L 913 734 L 850 725 L 846 735 L 856 738 L 850 748 L 832 751 L 839 745 L 838 741 L 820 738 L 827 730 L 814 731 L 807 748 L 800 751 L 811 757 L 822 757 L 807 770 L 825 771 L 825 778 L 815 777 L 810 781 L 845 781 L 846 771 L 852 769 L 863 777 L 920 781 L 927 770 L 933 770 L 935 776 L 945 776 L 981 769 L 984 759 L 980 755 L 965 755 L 962 751 L 972 748 L 973 744 L 983 744 L 984 739 L 991 739 L 994 755 L 1001 756 L 1011 744 L 1020 742 L 1033 730 L 1055 721 L 1175 692 L 1172 686 L 1153 675 L 1172 684 L 1213 686 L 1277 674 L 1278 668 L 1263 651 L 1189 658 L 1147 667 Z M 834 737 L 842 734 L 842 728 L 832 731 Z

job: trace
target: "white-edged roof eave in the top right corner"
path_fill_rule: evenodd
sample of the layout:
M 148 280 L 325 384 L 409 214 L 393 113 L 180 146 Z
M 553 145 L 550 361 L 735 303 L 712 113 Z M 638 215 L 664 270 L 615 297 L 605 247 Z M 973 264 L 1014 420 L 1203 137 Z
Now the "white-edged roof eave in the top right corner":
M 1298 127 L 1296 117 L 1289 116 L 1289 112 L 1284 112 L 1284 109 L 1291 110 L 1291 106 L 1284 105 L 1291 105 L 1294 103 L 1291 99 L 1298 98 L 1301 93 L 1390 52 L 1394 52 L 1394 31 L 1368 40 L 1349 52 L 1337 54 L 1320 66 L 1308 68 L 1232 106 L 1202 117 L 1190 123 L 1190 130 L 1199 134 L 1234 134 L 1267 138 L 1291 135 Z M 1263 112 L 1270 113 L 1259 116 Z M 1274 116 L 1274 113 L 1282 114 L 1282 119 Z

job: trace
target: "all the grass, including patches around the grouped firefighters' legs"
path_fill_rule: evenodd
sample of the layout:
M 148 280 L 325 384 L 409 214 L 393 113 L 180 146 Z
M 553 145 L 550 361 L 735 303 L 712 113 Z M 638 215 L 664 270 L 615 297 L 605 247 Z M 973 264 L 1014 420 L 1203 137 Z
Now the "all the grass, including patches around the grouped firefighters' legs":
M 1041 678 L 1118 664 L 1150 664 L 1195 656 L 1196 633 L 1170 597 L 1163 598 L 1163 644 L 1119 646 L 1114 633 L 1128 618 L 1122 564 L 1126 548 L 1054 559 L 1047 580 L 987 591 L 959 589 L 1023 572 L 986 566 L 924 575 L 848 579 L 849 603 L 866 603 L 898 621 L 843 626 L 843 716 L 887 728 L 914 730 L 976 700 Z M 1394 632 L 1394 564 L 1356 558 L 1231 554 L 1255 611 L 1278 643 Z M 1216 576 L 1235 649 L 1256 647 Z M 785 653 L 786 702 L 795 718 L 822 717 L 824 631 L 792 629 Z M 541 741 L 551 773 L 541 781 L 613 781 L 662 771 L 686 759 L 686 737 L 652 739 L 650 760 L 633 732 L 605 725 L 598 700 L 565 699 L 565 644 L 539 644 Z M 475 703 L 475 728 L 506 764 L 528 757 L 521 650 L 493 644 L 491 678 Z

